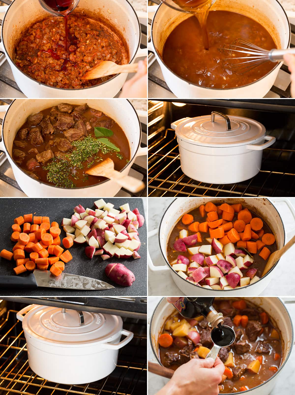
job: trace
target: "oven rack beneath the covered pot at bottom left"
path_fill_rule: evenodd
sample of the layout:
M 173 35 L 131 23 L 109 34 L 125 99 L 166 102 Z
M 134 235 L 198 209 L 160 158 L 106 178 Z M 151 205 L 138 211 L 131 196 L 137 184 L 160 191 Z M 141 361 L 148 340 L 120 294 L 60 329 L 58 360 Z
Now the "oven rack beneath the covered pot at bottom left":
M 83 385 L 49 382 L 30 370 L 26 340 L 17 310 L 8 310 L 0 324 L 0 395 L 144 395 L 147 386 L 146 321 L 124 319 L 133 339 L 119 350 L 117 367 L 107 377 Z

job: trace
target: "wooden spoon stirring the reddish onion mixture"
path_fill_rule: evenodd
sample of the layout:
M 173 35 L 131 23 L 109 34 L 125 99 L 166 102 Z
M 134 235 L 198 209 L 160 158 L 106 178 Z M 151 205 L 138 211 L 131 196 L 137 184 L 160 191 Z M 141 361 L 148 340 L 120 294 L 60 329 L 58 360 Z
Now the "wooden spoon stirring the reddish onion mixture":
M 110 60 L 103 60 L 97 64 L 93 69 L 87 71 L 81 79 L 95 79 L 106 77 L 107 75 L 119 73 L 136 73 L 138 64 L 116 64 Z

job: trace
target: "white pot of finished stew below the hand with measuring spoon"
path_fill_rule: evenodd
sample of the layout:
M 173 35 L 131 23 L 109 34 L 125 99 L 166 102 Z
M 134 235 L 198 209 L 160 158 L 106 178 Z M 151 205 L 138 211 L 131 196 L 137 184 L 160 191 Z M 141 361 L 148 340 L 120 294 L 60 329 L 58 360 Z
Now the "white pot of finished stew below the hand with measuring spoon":
M 257 305 L 258 307 L 263 308 L 269 314 L 271 319 L 276 323 L 282 335 L 283 358 L 282 365 L 278 371 L 271 378 L 269 378 L 269 380 L 265 381 L 259 386 L 241 392 L 247 395 L 268 395 L 276 384 L 276 380 L 278 380 L 291 354 L 294 340 L 293 325 L 289 312 L 281 299 L 275 297 L 246 297 L 244 299 Z M 166 298 L 163 298 L 155 308 L 150 321 L 149 340 L 153 353 L 155 354 L 155 359 L 160 365 L 161 362 L 159 359 L 158 338 L 162 333 L 162 328 L 166 319 L 168 316 L 170 316 L 170 314 L 172 314 L 173 311 L 175 311 L 173 305 L 168 303 Z

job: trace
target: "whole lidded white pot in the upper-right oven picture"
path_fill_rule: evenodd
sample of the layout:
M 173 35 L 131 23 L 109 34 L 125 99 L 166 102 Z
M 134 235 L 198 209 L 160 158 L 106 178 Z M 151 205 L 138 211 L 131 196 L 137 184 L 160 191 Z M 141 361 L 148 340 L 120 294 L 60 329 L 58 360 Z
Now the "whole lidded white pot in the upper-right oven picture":
M 180 119 L 171 128 L 175 129 L 183 173 L 210 184 L 251 179 L 259 173 L 263 150 L 276 141 L 265 135 L 261 123 L 216 111 L 211 116 Z

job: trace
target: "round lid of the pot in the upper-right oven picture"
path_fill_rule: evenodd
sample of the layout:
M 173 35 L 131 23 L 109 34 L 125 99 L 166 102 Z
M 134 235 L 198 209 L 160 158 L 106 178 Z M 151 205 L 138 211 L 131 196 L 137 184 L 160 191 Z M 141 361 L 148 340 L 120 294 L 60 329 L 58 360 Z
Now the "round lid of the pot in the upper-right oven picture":
M 251 144 L 261 140 L 266 132 L 265 127 L 253 119 L 225 115 L 216 111 L 211 115 L 175 122 L 172 124 L 173 127 L 177 137 L 188 143 L 206 147 Z

